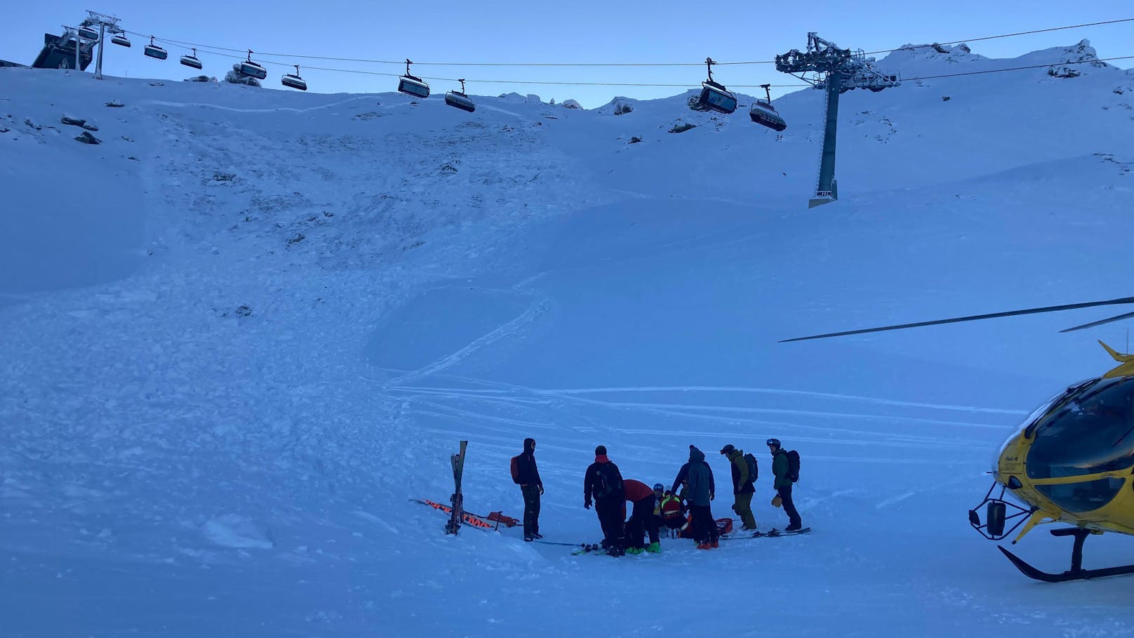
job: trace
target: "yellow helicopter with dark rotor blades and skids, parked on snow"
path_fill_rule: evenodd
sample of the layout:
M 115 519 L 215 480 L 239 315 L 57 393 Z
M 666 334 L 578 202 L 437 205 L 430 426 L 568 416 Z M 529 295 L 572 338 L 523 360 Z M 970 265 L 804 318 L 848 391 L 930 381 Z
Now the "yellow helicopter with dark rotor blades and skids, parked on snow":
M 780 343 L 1125 303 L 1134 303 L 1134 297 L 863 328 Z M 1134 312 L 1127 312 L 1060 331 L 1132 317 Z M 1036 580 L 1061 582 L 1134 573 L 1134 565 L 1083 569 L 1083 543 L 1088 536 L 1107 531 L 1134 536 L 1134 355 L 1116 352 L 1101 341 L 1099 344 L 1119 362 L 1118 367 L 1101 377 L 1068 386 L 1029 414 L 1000 446 L 992 465 L 992 487 L 968 511 L 970 524 L 991 540 L 1007 538 L 1023 526 L 1013 544 L 1036 524 L 1072 526 L 1050 530 L 1052 536 L 1074 537 L 1070 569 L 1063 573 L 1040 571 L 998 546 L 1021 572 Z M 1000 492 L 993 496 L 998 486 Z M 1005 501 L 1008 494 L 1026 506 Z M 1009 509 L 1014 512 L 1010 515 Z M 1013 520 L 1015 523 L 1006 530 Z

